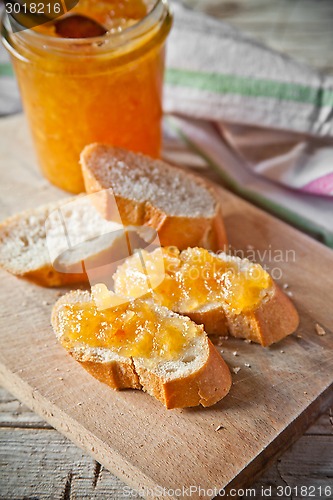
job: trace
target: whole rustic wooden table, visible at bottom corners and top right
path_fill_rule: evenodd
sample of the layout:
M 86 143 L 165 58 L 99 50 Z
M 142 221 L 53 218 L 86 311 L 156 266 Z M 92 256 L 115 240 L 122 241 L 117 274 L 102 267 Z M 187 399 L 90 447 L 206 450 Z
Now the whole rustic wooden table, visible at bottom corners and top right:
M 333 73 L 331 0 L 186 0 L 185 3 L 225 18 L 272 47 Z M 0 429 L 0 499 L 138 498 L 4 389 L 0 389 Z M 279 496 L 278 486 L 284 491 Z M 248 492 L 243 498 L 296 500 L 302 497 L 293 488 L 301 486 L 308 487 L 303 498 L 333 498 L 325 496 L 324 491 L 326 486 L 333 490 L 330 409 L 251 486 L 256 494 Z M 310 486 L 317 488 L 312 495 Z M 272 487 L 271 494 L 267 490 L 264 496 L 262 487 Z

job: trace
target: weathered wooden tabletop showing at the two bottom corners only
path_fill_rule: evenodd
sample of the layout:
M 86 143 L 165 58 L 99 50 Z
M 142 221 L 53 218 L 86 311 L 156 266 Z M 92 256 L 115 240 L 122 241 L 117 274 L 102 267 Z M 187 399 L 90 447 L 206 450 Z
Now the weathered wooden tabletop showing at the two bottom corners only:
M 290 500 L 290 495 L 277 496 L 277 488 L 333 486 L 331 415 L 327 410 L 256 483 L 249 481 L 243 498 L 251 498 L 254 489 L 252 498 L 264 499 L 262 489 L 272 488 L 270 500 Z M 1 388 L 0 462 L 1 500 L 128 498 L 120 479 Z M 141 497 L 131 492 L 130 498 Z M 301 496 L 293 494 L 292 498 Z

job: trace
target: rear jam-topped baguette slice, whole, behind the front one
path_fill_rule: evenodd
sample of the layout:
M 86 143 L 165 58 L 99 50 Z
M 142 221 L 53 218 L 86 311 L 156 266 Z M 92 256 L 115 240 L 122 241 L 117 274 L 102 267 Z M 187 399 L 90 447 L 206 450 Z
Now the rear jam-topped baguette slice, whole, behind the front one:
M 239 287 L 237 292 L 230 292 L 232 290 L 232 288 L 228 288 L 230 280 L 227 274 L 224 274 L 223 276 L 226 278 L 223 276 L 222 280 L 219 278 L 219 285 L 216 284 L 217 281 L 214 281 L 214 287 L 218 290 L 214 297 L 210 293 L 211 290 L 205 288 L 206 285 L 200 284 L 198 280 L 194 279 L 189 285 L 189 282 L 183 279 L 182 266 L 185 265 L 184 263 L 192 266 L 194 271 L 198 269 L 200 273 L 205 272 L 205 264 L 200 261 L 200 255 L 205 252 L 203 249 L 188 248 L 179 253 L 174 248 L 164 248 L 162 251 L 164 252 L 166 275 L 162 284 L 151 290 L 148 295 L 157 303 L 166 305 L 177 313 L 189 316 L 198 324 L 203 324 L 208 334 L 228 335 L 230 333 L 234 337 L 245 338 L 263 346 L 269 346 L 297 329 L 299 317 L 294 305 L 258 264 L 223 252 L 219 254 L 206 252 L 207 257 L 212 256 L 218 259 L 217 265 L 219 261 L 231 265 L 236 278 L 239 276 L 245 280 L 244 286 Z M 141 251 L 140 256 L 134 254 L 128 258 L 114 275 L 116 293 L 132 297 L 139 296 L 141 289 L 143 290 L 142 284 L 147 282 L 147 277 L 149 283 L 156 281 L 154 276 L 155 254 L 156 251 L 153 253 Z M 198 262 L 201 262 L 199 267 Z M 216 266 L 216 264 L 213 265 Z M 253 305 L 250 304 L 250 306 L 247 305 L 243 308 L 234 307 L 231 293 L 234 293 L 238 304 L 243 302 L 243 297 L 247 300 L 247 294 L 251 291 L 250 287 L 253 286 L 250 276 L 255 271 L 260 273 L 265 285 L 258 289 L 258 296 L 253 300 Z M 171 287 L 174 283 L 181 290 L 180 296 L 186 298 L 185 301 L 173 298 L 170 280 Z M 256 283 L 254 285 L 257 286 Z M 204 290 L 201 291 L 199 304 L 196 303 L 198 286 Z M 194 304 L 193 307 L 188 306 L 191 302 Z

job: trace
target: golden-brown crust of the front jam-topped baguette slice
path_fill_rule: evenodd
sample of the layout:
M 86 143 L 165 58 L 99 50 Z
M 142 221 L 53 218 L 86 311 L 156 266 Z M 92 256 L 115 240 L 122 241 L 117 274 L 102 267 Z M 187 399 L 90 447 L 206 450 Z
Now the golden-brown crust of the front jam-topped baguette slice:
M 59 312 L 64 305 L 88 301 L 90 294 L 80 290 L 61 297 L 53 307 L 51 323 L 59 336 Z M 205 338 L 207 348 L 205 363 L 195 372 L 171 380 L 157 375 L 135 358 L 125 358 L 108 362 L 86 352 L 81 359 L 68 351 L 83 368 L 99 381 L 113 389 L 142 389 L 161 401 L 166 408 L 185 408 L 189 406 L 211 406 L 224 398 L 231 387 L 229 368 L 214 345 Z

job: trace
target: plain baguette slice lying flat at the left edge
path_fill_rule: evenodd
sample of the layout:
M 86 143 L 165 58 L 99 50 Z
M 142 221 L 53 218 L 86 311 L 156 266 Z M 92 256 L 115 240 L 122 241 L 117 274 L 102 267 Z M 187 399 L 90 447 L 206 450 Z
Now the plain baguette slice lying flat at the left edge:
M 105 220 L 93 201 L 66 198 L 3 221 L 0 266 L 42 286 L 88 281 L 85 269 L 112 261 L 111 252 L 116 260 L 125 238 L 121 226 Z

